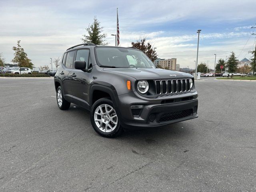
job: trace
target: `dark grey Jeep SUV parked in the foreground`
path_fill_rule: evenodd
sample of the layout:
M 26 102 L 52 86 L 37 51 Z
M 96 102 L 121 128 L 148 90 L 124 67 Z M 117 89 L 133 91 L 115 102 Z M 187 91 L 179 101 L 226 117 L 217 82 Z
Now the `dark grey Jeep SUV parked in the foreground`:
M 72 46 L 62 55 L 54 85 L 58 107 L 74 103 L 90 110 L 92 127 L 105 137 L 198 117 L 193 76 L 158 69 L 136 48 Z

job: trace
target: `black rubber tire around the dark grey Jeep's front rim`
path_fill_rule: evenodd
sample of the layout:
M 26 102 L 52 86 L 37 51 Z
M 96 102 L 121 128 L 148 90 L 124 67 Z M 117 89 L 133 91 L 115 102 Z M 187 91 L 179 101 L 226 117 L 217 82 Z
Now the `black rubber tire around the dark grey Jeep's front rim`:
M 100 136 L 103 136 L 103 137 L 107 137 L 107 138 L 114 138 L 116 136 L 119 136 L 120 134 L 122 134 L 123 132 L 123 128 L 121 127 L 120 125 L 120 120 L 118 119 L 117 117 L 117 124 L 116 124 L 116 128 L 114 128 L 113 131 L 111 132 L 103 132 L 102 130 L 100 130 L 100 128 L 98 128 L 98 126 L 96 125 L 95 121 L 94 121 L 94 112 L 95 110 L 98 108 L 98 106 L 102 105 L 102 104 L 107 104 L 107 105 L 110 105 L 114 111 L 116 110 L 114 108 L 114 104 L 112 102 L 112 100 L 108 99 L 108 98 L 101 98 L 99 100 L 97 100 L 93 105 L 92 105 L 92 108 L 91 108 L 91 111 L 90 111 L 90 119 L 91 119 L 91 123 L 92 123 L 92 127 L 93 129 L 100 135 Z M 117 115 L 117 114 L 116 114 Z M 106 126 L 106 124 L 105 124 Z

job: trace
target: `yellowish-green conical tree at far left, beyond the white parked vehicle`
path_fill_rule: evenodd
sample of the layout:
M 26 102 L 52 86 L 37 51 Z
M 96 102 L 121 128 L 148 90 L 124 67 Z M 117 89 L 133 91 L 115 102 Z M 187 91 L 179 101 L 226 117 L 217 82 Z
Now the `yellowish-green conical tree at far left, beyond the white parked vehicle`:
M 17 64 L 19 67 L 28 67 L 30 69 L 33 68 L 33 64 L 31 60 L 28 58 L 28 54 L 24 51 L 24 49 L 20 46 L 20 40 L 17 42 L 17 47 L 12 47 L 14 50 L 14 58 L 12 62 Z

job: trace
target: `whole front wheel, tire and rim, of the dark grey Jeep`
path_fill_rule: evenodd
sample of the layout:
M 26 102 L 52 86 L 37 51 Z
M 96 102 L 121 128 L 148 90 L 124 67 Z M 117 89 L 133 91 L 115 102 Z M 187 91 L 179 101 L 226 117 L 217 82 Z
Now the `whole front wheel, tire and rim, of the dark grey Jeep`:
M 114 104 L 110 99 L 97 100 L 90 112 L 92 127 L 101 136 L 113 138 L 123 131 Z

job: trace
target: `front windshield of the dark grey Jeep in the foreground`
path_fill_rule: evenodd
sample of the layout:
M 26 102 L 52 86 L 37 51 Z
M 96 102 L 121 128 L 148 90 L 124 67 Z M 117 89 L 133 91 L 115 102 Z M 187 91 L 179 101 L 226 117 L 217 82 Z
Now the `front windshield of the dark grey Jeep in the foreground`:
M 156 68 L 140 50 L 119 47 L 96 47 L 95 56 L 99 66 L 115 68 Z

